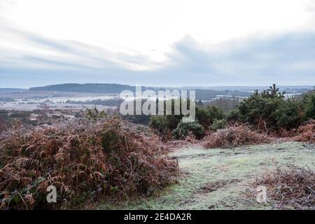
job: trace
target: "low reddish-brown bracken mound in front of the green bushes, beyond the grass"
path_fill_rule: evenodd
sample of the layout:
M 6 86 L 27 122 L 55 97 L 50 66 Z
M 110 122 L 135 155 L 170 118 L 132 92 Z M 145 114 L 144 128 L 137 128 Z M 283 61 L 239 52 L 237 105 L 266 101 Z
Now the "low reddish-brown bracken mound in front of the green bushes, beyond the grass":
M 248 125 L 234 125 L 216 132 L 210 132 L 204 138 L 205 148 L 235 147 L 247 144 L 268 143 L 266 134 L 252 131 Z

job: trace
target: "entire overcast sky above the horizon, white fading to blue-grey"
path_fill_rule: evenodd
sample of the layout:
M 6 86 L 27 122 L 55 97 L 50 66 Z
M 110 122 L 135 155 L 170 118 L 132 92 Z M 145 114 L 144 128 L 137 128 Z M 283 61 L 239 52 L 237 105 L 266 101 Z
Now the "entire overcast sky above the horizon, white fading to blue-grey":
M 0 87 L 315 85 L 315 0 L 0 0 Z

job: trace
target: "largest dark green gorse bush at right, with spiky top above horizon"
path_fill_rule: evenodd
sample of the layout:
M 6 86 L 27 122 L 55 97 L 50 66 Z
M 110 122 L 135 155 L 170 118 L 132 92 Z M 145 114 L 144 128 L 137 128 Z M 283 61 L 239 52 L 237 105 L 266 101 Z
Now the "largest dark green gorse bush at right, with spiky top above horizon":
M 303 100 L 284 97 L 284 92 L 273 85 L 269 90 L 257 90 L 244 99 L 228 116 L 229 120 L 250 123 L 259 130 L 290 130 L 314 116 L 313 94 L 305 94 Z

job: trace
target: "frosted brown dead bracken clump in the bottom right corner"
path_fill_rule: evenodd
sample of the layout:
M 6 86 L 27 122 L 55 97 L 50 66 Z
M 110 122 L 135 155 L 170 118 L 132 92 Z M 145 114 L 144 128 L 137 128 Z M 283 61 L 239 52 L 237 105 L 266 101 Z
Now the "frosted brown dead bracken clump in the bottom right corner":
M 276 166 L 255 181 L 257 186 L 266 186 L 275 209 L 314 209 L 315 172 L 308 167 L 296 165 Z

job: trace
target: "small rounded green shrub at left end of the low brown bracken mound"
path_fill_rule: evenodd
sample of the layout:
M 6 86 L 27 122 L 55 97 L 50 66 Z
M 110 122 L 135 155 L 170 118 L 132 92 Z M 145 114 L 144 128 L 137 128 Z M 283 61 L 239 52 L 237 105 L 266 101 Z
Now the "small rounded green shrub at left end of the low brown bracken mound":
M 172 134 L 176 139 L 183 139 L 190 132 L 196 137 L 196 139 L 202 139 L 202 137 L 204 137 L 204 127 L 196 121 L 192 123 L 183 123 L 181 121 Z

